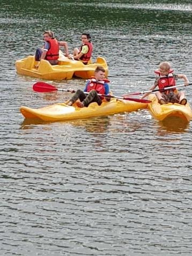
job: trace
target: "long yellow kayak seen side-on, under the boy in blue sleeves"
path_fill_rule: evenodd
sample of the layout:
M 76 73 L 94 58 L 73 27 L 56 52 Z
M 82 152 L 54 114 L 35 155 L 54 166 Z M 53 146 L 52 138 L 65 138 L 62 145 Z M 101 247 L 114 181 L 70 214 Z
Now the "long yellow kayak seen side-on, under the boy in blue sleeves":
M 29 108 L 22 106 L 20 107 L 20 112 L 27 119 L 62 121 L 111 115 L 121 112 L 131 112 L 146 107 L 146 103 L 111 99 L 109 102 L 103 102 L 101 106 L 99 106 L 97 103 L 91 103 L 88 107 L 83 108 L 77 107 L 76 104 L 73 104 L 73 106 L 68 106 L 64 103 L 54 104 L 42 108 Z

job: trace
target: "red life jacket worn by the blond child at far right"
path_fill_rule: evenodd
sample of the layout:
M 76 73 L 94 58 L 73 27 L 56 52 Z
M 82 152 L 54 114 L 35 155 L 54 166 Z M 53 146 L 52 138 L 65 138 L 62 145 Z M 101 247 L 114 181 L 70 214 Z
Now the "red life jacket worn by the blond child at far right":
M 161 76 L 159 70 L 156 70 L 154 72 L 159 75 L 158 87 L 160 90 L 163 90 L 165 87 L 176 85 L 175 78 L 173 76 L 173 70 L 170 70 L 167 76 Z M 170 91 L 175 91 L 175 90 L 176 88 L 173 88 L 171 90 L 166 90 L 165 93 L 168 94 Z

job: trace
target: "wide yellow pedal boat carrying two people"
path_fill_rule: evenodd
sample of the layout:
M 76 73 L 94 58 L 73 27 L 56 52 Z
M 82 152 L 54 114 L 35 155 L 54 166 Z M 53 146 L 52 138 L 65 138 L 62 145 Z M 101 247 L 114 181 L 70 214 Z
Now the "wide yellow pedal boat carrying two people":
M 38 68 L 35 68 L 36 64 L 39 64 Z M 71 60 L 65 57 L 60 51 L 58 65 L 51 65 L 46 60 L 37 62 L 34 56 L 28 56 L 22 60 L 16 61 L 18 74 L 48 80 L 69 80 L 73 77 L 89 79 L 91 76 L 94 76 L 94 70 L 98 65 L 104 67 L 107 77 L 108 66 L 103 57 L 97 57 L 95 63 L 90 62 L 84 65 L 81 61 Z

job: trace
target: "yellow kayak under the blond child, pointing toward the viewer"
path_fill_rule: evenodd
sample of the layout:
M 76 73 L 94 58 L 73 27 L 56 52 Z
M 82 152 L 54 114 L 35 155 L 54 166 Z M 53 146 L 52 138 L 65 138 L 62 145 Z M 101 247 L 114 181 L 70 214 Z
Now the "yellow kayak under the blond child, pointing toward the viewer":
M 163 121 L 164 119 L 172 116 L 187 122 L 192 120 L 192 110 L 188 103 L 186 105 L 180 105 L 178 103 L 160 105 L 154 94 L 150 94 L 148 99 L 152 101 L 148 104 L 149 111 L 153 118 L 159 121 Z

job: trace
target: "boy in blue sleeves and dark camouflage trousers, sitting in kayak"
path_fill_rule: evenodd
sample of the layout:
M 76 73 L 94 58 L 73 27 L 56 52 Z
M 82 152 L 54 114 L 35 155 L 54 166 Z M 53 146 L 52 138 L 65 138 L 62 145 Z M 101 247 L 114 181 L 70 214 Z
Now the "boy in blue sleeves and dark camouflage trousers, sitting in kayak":
M 72 106 L 73 103 L 77 101 L 78 107 L 88 107 L 90 103 L 96 102 L 99 106 L 102 103 L 102 100 L 110 101 L 108 97 L 98 96 L 100 94 L 109 94 L 109 80 L 105 79 L 105 69 L 101 66 L 98 66 L 95 69 L 95 77 L 89 79 L 86 83 L 84 91 L 77 90 L 73 97 L 69 100 L 68 106 Z M 84 92 L 89 92 L 85 94 Z M 109 94 L 110 95 L 110 94 Z

